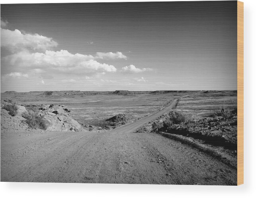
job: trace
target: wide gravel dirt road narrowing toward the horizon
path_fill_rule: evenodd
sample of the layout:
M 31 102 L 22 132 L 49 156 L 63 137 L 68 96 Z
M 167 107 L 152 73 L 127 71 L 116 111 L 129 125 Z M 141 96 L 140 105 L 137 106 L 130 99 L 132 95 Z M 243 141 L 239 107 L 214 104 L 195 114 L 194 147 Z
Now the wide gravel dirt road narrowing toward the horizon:
M 1 181 L 236 185 L 236 170 L 211 156 L 133 133 L 175 103 L 109 132 L 1 131 Z

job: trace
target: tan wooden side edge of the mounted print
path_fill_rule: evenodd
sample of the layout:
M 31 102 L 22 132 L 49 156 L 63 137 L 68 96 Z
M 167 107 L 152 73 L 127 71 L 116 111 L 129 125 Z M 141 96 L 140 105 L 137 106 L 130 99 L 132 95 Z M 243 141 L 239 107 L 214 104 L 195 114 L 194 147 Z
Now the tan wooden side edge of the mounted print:
M 237 185 L 244 183 L 244 3 L 237 1 Z

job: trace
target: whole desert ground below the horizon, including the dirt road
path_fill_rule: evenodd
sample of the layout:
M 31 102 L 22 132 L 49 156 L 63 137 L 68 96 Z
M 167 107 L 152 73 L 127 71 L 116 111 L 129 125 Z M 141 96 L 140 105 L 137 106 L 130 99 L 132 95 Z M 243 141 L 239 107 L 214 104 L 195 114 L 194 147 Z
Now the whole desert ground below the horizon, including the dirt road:
M 233 90 L 4 92 L 1 181 L 236 185 L 236 107 Z

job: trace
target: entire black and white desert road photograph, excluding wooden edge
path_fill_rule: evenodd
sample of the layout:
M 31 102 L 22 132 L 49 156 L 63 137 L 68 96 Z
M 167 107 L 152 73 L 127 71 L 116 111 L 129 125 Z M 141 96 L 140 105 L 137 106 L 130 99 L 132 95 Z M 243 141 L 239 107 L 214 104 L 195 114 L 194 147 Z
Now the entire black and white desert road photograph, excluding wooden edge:
M 237 185 L 237 1 L 1 4 L 1 182 Z

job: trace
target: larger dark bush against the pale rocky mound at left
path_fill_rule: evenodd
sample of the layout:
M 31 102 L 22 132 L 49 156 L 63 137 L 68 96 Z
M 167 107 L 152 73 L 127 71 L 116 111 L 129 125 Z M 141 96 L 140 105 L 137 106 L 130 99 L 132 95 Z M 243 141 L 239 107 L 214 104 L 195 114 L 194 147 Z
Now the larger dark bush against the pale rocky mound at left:
M 37 111 L 27 111 L 22 114 L 22 117 L 27 119 L 25 122 L 32 129 L 43 129 L 46 130 L 48 127 L 47 120 L 43 119 L 38 115 Z

